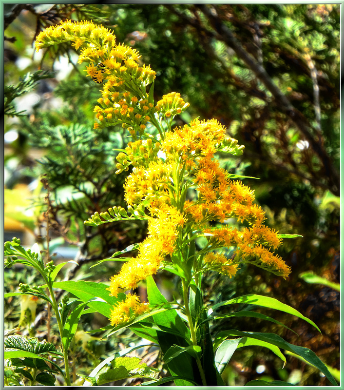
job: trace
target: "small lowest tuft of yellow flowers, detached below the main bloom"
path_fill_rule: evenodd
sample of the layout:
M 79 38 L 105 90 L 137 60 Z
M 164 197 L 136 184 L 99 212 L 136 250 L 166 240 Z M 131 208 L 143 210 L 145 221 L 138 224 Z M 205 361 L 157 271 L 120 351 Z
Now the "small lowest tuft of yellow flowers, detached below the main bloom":
M 118 302 L 111 310 L 110 321 L 112 326 L 125 324 L 129 320 L 148 312 L 149 303 L 141 303 L 136 294 L 128 293 L 122 302 Z

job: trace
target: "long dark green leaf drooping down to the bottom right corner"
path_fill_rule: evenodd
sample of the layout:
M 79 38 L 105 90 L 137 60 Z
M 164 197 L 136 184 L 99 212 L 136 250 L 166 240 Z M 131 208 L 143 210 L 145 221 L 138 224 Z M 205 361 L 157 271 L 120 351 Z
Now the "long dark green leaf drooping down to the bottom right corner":
M 296 355 L 299 355 L 304 358 L 308 363 L 312 364 L 318 370 L 322 371 L 327 377 L 327 379 L 332 383 L 332 385 L 338 386 L 336 380 L 329 372 L 325 364 L 318 358 L 318 356 L 313 351 L 309 350 L 308 348 L 289 344 L 282 337 L 274 333 L 242 332 L 236 331 L 235 329 L 226 331 L 226 333 L 228 336 L 252 337 L 275 345 L 278 348 L 293 352 Z

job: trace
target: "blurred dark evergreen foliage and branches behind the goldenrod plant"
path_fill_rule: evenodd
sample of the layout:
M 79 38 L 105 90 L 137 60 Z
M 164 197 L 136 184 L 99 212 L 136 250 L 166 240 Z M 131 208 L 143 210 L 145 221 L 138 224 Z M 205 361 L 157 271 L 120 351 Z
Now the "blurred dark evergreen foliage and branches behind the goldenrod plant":
M 195 117 L 216 118 L 230 137 L 245 145 L 243 156 L 219 156 L 222 166 L 259 178 L 244 183 L 255 190 L 268 226 L 303 236 L 285 239 L 277 251 L 291 266 L 287 280 L 253 266 L 242 267 L 231 280 L 209 273 L 204 280 L 206 302 L 250 292 L 268 295 L 302 312 L 322 334 L 283 313 L 274 313 L 274 318 L 298 336 L 258 319 L 213 323 L 212 334 L 229 327 L 275 332 L 310 348 L 338 375 L 340 5 L 4 7 L 4 240 L 16 236 L 25 246 L 38 242 L 46 259 L 56 262 L 76 260 L 80 266 L 69 268 L 65 279 L 108 283 L 118 262 L 89 267 L 145 237 L 141 221 L 83 225 L 95 211 L 125 206 L 122 192 L 128 173 L 115 175 L 114 149 L 130 139 L 121 127 L 93 129 L 101 86 L 85 77 L 70 45 L 38 53 L 33 46 L 41 30 L 61 20 L 101 23 L 114 31 L 117 43 L 137 49 L 142 62 L 157 72 L 155 101 L 175 91 L 190 102 L 176 125 Z M 16 291 L 19 282 L 38 283 L 36 277 L 20 268 L 6 270 L 5 292 Z M 175 289 L 168 273 L 156 280 L 166 294 Z M 139 292 L 144 295 L 144 286 Z M 44 304 L 38 302 L 31 319 L 35 328 L 26 324 L 30 334 L 46 337 L 44 313 Z M 20 300 L 11 297 L 5 304 L 5 327 L 16 327 L 19 316 Z M 83 320 L 84 330 L 107 325 L 93 314 Z M 73 367 L 87 374 L 99 359 L 135 342 L 135 337 L 128 331 L 106 342 L 81 337 Z M 85 343 L 88 348 L 81 348 Z M 287 367 L 282 365 L 267 350 L 243 348 L 234 353 L 225 381 L 229 386 L 252 379 L 329 384 L 296 357 L 287 356 Z

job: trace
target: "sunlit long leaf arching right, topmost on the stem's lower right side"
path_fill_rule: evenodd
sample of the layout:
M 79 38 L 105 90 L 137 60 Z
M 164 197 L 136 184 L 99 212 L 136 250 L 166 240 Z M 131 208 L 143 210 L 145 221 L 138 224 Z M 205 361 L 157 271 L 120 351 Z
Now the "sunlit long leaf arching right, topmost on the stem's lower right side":
M 214 305 L 211 309 L 209 309 L 208 313 L 215 311 L 216 309 L 225 306 L 225 305 L 231 305 L 234 303 L 246 303 L 251 305 L 258 305 L 263 306 L 269 309 L 276 309 L 280 310 L 281 312 L 286 312 L 291 315 L 296 315 L 299 318 L 302 318 L 312 326 L 314 326 L 320 333 L 320 329 L 315 325 L 313 321 L 302 315 L 297 310 L 291 308 L 290 306 L 286 305 L 285 303 L 280 302 L 279 300 L 275 298 L 270 298 L 268 296 L 263 295 L 257 295 L 257 294 L 248 294 L 248 295 L 242 295 L 237 298 L 229 299 L 228 301 L 220 302 Z

